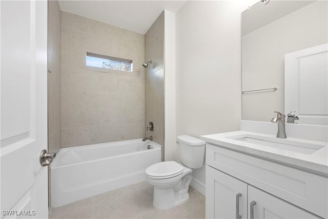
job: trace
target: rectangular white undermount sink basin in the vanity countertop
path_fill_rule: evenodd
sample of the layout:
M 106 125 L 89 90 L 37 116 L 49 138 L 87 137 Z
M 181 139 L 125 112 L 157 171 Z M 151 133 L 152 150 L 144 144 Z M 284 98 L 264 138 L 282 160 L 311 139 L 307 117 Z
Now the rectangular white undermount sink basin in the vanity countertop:
M 247 142 L 247 143 L 257 144 L 261 146 L 282 149 L 286 151 L 293 151 L 302 154 L 312 154 L 325 146 L 323 144 L 312 144 L 304 141 L 290 140 L 286 138 L 268 137 L 268 136 L 254 135 L 254 134 L 233 135 L 227 138 L 241 141 L 241 142 Z

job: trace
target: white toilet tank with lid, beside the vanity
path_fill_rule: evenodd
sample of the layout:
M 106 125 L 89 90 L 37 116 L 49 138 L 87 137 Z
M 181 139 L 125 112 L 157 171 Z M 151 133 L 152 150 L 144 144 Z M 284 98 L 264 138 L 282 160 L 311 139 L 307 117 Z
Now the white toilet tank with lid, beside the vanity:
M 189 168 L 196 169 L 203 166 L 205 142 L 190 135 L 177 136 L 181 163 Z

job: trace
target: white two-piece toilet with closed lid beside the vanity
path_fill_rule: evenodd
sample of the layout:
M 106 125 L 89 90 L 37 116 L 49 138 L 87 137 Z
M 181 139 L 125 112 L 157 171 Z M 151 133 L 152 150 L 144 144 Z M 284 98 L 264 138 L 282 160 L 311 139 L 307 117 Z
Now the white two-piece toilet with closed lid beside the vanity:
M 189 135 L 180 135 L 177 137 L 177 143 L 180 164 L 166 161 L 146 169 L 147 181 L 154 186 L 153 205 L 156 209 L 166 210 L 187 202 L 191 172 L 203 166 L 204 141 Z

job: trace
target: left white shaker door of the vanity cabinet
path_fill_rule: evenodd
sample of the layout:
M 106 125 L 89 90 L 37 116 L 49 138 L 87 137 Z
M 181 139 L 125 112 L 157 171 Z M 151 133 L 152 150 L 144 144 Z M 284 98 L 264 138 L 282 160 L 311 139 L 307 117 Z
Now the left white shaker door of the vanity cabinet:
M 206 218 L 247 218 L 247 185 L 206 165 Z

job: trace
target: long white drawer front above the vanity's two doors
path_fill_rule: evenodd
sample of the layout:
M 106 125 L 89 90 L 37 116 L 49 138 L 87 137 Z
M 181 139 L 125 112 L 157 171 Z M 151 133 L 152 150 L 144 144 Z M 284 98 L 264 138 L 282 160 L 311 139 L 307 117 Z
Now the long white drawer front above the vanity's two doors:
M 328 179 L 211 144 L 206 163 L 296 206 L 327 218 Z

